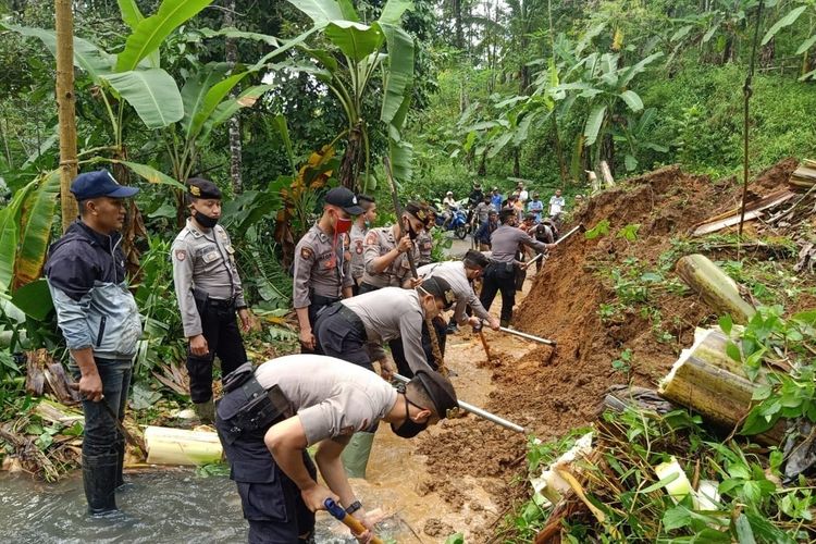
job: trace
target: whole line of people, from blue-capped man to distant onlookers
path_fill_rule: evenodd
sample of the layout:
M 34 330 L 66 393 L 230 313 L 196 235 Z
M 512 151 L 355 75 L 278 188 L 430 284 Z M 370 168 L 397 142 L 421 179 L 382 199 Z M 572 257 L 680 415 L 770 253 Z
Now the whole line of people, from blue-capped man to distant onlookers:
M 521 183 L 506 199 L 497 188 L 485 194 L 474 185 L 469 221 L 478 225 L 479 247 L 445 262 L 431 259 L 429 231 L 436 222 L 429 205 L 407 202 L 394 225 L 374 227 L 373 197 L 329 190 L 320 218 L 295 248 L 301 353 L 256 368 L 242 337 L 252 317 L 235 247 L 219 224 L 222 194 L 203 178 L 186 188 L 189 218 L 169 258 L 188 344 L 190 399 L 200 421 L 218 430 L 249 542 L 311 542 L 314 511 L 330 497 L 362 520 L 367 530 L 356 536 L 368 542 L 371 526 L 348 478 L 366 477 L 381 421 L 410 438 L 457 407 L 441 367 L 446 336 L 467 324 L 509 325 L 526 262 L 558 237 L 560 190 L 545 212 L 539 193 Z M 124 418 L 141 323 L 120 230 L 125 201 L 138 189 L 101 170 L 77 176 L 71 190 L 81 215 L 51 246 L 45 275 L 83 396 L 83 480 L 88 509 L 99 515 L 116 510 L 124 482 L 116 419 Z M 448 193 L 445 205 L 452 202 Z M 496 294 L 499 319 L 490 313 Z M 218 403 L 215 357 L 223 376 Z M 404 388 L 391 385 L 397 372 L 409 379 Z M 307 448 L 313 445 L 312 460 Z

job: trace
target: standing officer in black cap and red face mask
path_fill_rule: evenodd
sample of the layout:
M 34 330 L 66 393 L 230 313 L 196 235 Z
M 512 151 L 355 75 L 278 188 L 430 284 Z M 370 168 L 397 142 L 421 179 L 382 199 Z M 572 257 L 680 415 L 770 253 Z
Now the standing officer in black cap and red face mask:
M 305 354 L 318 350 L 313 331 L 318 314 L 341 298 L 353 296 L 351 256 L 346 254 L 346 233 L 351 230 L 351 215 L 362 213 L 364 210 L 354 193 L 335 187 L 325 195 L 323 214 L 295 247 L 292 301 Z

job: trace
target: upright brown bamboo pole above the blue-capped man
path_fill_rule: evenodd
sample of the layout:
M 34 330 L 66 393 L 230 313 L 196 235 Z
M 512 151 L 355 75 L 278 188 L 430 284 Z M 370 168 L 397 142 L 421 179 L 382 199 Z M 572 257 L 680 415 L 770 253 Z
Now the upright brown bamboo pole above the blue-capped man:
M 74 111 L 74 13 L 70 0 L 54 0 L 57 23 L 57 106 L 60 124 L 60 206 L 62 232 L 78 215 L 71 182 L 78 172 L 76 162 L 76 112 Z

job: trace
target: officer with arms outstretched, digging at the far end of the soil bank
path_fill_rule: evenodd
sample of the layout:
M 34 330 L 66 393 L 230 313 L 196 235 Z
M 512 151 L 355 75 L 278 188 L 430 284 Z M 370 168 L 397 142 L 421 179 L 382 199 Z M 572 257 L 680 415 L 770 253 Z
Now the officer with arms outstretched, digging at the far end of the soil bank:
M 508 326 L 512 319 L 512 307 L 516 305 L 516 272 L 519 263 L 516 252 L 519 244 L 545 251 L 552 244 L 535 240 L 518 227 L 518 214 L 514 209 L 504 209 L 499 215 L 502 226 L 491 235 L 493 262 L 487 267 L 482 282 L 480 300 L 490 310 L 496 293 L 502 293 L 502 326 Z

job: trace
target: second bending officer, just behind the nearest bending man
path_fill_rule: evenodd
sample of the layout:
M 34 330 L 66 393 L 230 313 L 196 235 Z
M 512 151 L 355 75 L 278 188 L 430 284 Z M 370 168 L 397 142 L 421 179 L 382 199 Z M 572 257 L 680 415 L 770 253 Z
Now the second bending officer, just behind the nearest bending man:
M 383 344 L 391 341 L 393 353 L 394 342 L 401 339 L 405 358 L 399 372 L 410 378 L 420 370 L 431 370 L 429 361 L 433 359 L 429 359 L 422 345 L 424 321 L 434 319 L 454 300 L 450 285 L 437 277 L 415 289 L 383 287 L 342 300 L 323 312 L 318 319 L 318 342 L 323 354 L 371 371 L 373 362 L 380 361 L 383 378 L 390 379 L 394 368 Z M 362 429 L 355 434 L 343 457 L 349 475 L 366 478 L 375 430 Z

